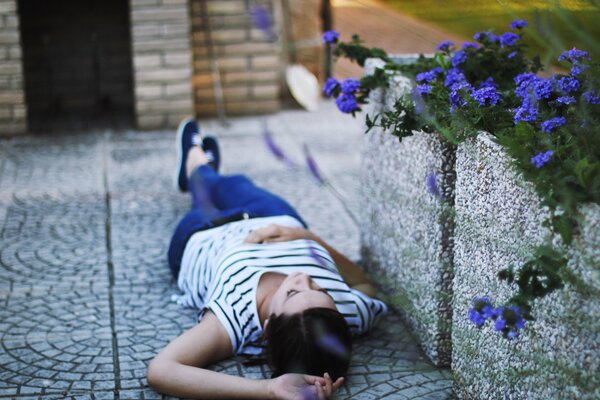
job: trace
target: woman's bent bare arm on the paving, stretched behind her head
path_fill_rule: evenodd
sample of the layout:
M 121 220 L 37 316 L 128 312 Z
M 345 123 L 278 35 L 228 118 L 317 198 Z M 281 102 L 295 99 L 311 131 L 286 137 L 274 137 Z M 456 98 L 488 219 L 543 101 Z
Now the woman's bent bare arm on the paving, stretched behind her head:
M 319 399 L 333 393 L 342 381 L 300 374 L 253 380 L 200 367 L 232 355 L 231 341 L 217 317 L 207 311 L 200 323 L 167 345 L 148 367 L 148 384 L 177 397 L 197 399 L 294 399 L 312 390 Z

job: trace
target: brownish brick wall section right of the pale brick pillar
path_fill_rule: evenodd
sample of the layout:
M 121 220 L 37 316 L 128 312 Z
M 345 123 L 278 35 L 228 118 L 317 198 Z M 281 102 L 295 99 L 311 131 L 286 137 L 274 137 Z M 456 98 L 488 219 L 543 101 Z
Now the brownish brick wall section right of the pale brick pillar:
M 279 1 L 279 0 L 276 0 Z M 252 6 L 273 13 L 273 1 L 191 0 L 194 96 L 198 116 L 217 114 L 220 80 L 225 112 L 241 115 L 280 108 L 280 45 L 252 25 Z M 216 72 L 211 70 L 211 57 Z

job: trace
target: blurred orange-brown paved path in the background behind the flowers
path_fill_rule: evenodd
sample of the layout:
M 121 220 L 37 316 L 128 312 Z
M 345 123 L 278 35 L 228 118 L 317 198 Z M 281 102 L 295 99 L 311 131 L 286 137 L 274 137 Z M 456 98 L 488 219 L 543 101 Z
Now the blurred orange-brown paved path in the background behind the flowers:
M 462 43 L 467 38 L 435 25 L 411 18 L 375 0 L 332 0 L 333 27 L 350 40 L 357 33 L 367 47 L 380 47 L 388 54 L 433 53 L 443 40 Z M 446 4 L 440 4 L 445 7 Z M 357 77 L 362 68 L 340 59 L 333 70 L 336 78 Z

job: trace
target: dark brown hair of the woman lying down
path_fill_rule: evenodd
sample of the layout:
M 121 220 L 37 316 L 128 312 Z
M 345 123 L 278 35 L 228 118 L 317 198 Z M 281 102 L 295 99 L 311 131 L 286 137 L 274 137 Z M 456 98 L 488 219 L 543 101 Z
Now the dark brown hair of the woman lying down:
M 290 372 L 315 376 L 327 372 L 335 381 L 345 376 L 350 366 L 350 328 L 342 314 L 330 308 L 272 314 L 266 336 L 273 378 Z

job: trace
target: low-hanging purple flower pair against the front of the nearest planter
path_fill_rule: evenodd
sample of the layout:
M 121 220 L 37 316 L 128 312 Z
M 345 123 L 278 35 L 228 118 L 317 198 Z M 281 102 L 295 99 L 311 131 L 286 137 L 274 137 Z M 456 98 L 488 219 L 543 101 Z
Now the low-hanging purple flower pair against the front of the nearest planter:
M 469 310 L 469 320 L 478 328 L 485 325 L 486 320 L 494 321 L 494 330 L 502 332 L 507 339 L 519 336 L 519 330 L 525 328 L 525 319 L 515 305 L 494 308 L 489 297 L 473 299 L 473 307 Z

